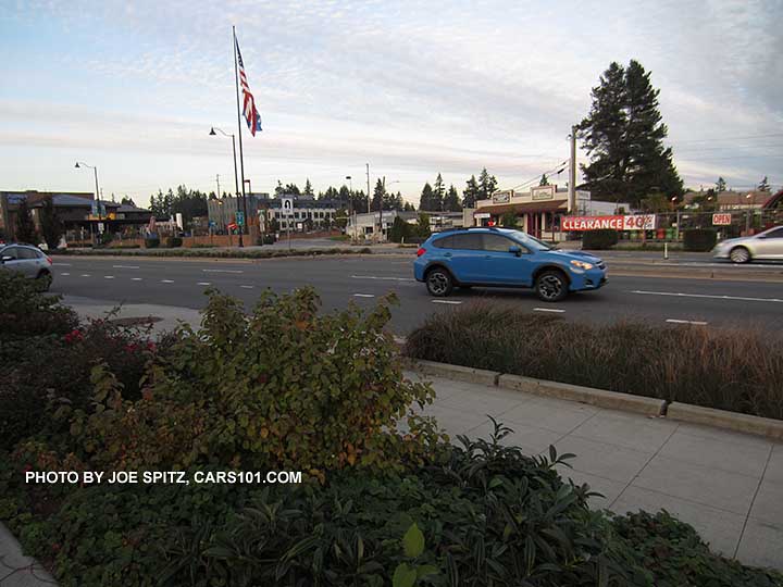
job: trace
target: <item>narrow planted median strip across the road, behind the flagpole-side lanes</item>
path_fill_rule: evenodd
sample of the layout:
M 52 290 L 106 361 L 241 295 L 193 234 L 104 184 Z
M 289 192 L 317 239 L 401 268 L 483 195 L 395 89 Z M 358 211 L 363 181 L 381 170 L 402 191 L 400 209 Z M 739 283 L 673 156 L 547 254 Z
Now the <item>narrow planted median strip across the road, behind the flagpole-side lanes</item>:
M 328 249 L 217 249 L 217 248 L 172 248 L 172 249 L 62 249 L 49 254 L 77 257 L 188 257 L 208 259 L 275 259 L 279 257 L 315 257 L 331 254 L 372 254 L 369 247 L 332 247 Z

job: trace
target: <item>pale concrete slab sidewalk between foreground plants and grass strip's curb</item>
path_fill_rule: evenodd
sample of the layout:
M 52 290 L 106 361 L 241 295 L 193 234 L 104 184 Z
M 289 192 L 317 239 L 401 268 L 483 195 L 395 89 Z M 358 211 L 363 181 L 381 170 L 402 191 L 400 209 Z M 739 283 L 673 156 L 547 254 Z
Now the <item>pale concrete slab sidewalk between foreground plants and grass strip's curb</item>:
M 783 570 L 783 444 L 660 417 L 594 408 L 497 387 L 419 376 L 437 399 L 425 413 L 452 437 L 487 438 L 487 414 L 530 454 L 571 452 L 563 477 L 587 483 L 617 513 L 666 509 L 713 551 Z

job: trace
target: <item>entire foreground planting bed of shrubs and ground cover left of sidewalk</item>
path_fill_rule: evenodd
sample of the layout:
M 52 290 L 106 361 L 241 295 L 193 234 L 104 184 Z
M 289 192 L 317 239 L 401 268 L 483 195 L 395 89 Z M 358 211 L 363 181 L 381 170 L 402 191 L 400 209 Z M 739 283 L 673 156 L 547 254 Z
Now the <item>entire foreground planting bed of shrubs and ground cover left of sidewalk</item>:
M 63 586 L 783 587 L 664 512 L 592 511 L 501 425 L 448 441 L 391 301 L 213 291 L 150 340 L 0 274 L 0 520 Z

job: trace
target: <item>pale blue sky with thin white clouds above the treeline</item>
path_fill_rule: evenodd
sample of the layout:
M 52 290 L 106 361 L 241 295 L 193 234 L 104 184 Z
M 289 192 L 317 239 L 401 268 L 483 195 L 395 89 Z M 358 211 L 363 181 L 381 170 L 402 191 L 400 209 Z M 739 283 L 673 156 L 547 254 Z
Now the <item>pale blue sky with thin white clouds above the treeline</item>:
M 438 173 L 522 185 L 631 59 L 687 187 L 783 187 L 781 0 L 0 0 L 0 190 L 92 191 L 82 161 L 140 205 L 233 191 L 231 139 L 209 136 L 237 133 L 232 25 L 263 124 L 243 123 L 253 191 L 366 189 L 366 163 L 415 203 Z

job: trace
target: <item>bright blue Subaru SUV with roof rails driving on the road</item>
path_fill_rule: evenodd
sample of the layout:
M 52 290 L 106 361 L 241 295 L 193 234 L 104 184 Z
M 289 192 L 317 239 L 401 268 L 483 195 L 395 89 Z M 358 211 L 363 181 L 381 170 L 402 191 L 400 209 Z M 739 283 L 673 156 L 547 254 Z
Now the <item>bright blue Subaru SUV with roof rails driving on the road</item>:
M 478 226 L 432 235 L 417 252 L 413 273 L 433 296 L 448 296 L 455 287 L 532 287 L 547 302 L 607 283 L 606 264 L 591 253 L 556 250 L 520 230 Z

